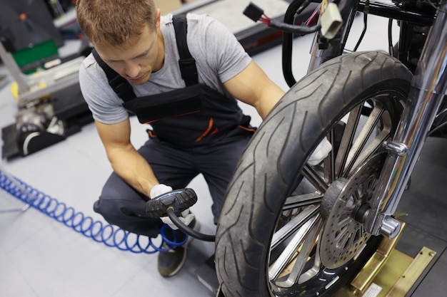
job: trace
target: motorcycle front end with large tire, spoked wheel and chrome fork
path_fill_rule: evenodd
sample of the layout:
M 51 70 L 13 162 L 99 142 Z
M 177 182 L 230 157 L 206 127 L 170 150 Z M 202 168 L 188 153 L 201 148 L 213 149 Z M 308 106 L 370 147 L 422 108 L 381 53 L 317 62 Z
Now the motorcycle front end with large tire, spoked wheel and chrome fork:
M 331 296 L 393 238 L 399 199 L 447 90 L 447 1 L 334 1 L 343 26 L 317 31 L 308 74 L 263 120 L 228 185 L 216 232 L 221 291 L 232 296 Z M 292 1 L 285 22 L 306 6 Z M 398 23 L 390 53 L 345 44 L 358 12 Z M 367 33 L 367 32 L 366 32 Z M 284 33 L 283 51 L 291 34 Z M 307 160 L 326 137 L 332 150 Z

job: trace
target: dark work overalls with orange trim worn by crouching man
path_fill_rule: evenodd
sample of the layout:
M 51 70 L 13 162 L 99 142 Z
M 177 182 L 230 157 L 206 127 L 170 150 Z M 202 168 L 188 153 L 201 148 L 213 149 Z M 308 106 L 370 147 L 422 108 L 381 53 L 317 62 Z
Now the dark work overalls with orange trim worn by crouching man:
M 254 128 L 236 99 L 199 83 L 196 63 L 186 45 L 186 18 L 174 16 L 174 28 L 186 88 L 136 98 L 127 80 L 107 66 L 96 51 L 93 53 L 109 84 L 124 100 L 124 107 L 140 123 L 152 126 L 153 130 L 148 130 L 149 140 L 139 153 L 149 162 L 156 178 L 180 189 L 203 174 L 213 198 L 211 209 L 216 224 L 229 179 Z M 110 224 L 156 237 L 163 223 L 146 216 L 148 199 L 113 172 L 94 210 Z

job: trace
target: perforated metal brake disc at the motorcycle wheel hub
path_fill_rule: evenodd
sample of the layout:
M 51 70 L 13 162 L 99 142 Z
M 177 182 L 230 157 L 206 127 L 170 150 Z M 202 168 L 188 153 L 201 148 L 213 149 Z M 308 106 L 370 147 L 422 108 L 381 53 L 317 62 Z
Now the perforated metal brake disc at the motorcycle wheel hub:
M 366 245 L 371 234 L 356 215 L 369 206 L 383 161 L 383 154 L 371 157 L 350 177 L 337 179 L 328 188 L 321 202 L 321 214 L 326 219 L 320 242 L 324 266 L 340 267 Z

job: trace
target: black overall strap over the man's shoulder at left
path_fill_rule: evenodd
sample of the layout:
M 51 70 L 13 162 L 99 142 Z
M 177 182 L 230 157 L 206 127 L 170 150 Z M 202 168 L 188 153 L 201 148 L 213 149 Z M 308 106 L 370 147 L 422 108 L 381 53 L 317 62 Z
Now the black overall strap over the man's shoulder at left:
M 91 53 L 93 53 L 96 62 L 98 62 L 99 66 L 101 66 L 101 68 L 104 70 L 104 73 L 106 73 L 107 80 L 109 80 L 109 85 L 115 91 L 116 95 L 124 100 L 124 102 L 136 98 L 134 89 L 132 88 L 129 81 L 127 81 L 121 75 L 116 73 L 116 71 L 110 68 L 110 66 L 101 59 L 95 48 L 91 51 Z

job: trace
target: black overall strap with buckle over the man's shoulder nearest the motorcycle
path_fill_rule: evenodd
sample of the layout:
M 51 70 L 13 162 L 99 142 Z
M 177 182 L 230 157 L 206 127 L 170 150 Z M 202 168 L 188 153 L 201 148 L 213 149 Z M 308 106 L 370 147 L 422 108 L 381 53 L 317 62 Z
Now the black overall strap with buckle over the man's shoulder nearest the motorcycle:
M 199 83 L 199 75 L 197 74 L 196 60 L 191 56 L 186 42 L 186 33 L 188 32 L 186 16 L 173 16 L 172 21 L 176 31 L 177 50 L 180 56 L 181 78 L 185 80 L 186 86 L 196 85 Z

